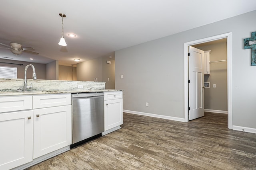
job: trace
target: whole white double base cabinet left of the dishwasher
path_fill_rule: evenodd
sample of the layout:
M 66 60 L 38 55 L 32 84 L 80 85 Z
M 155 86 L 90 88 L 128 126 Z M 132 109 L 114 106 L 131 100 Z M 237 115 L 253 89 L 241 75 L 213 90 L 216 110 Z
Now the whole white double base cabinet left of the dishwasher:
M 71 94 L 0 96 L 0 170 L 69 150 L 71 119 Z

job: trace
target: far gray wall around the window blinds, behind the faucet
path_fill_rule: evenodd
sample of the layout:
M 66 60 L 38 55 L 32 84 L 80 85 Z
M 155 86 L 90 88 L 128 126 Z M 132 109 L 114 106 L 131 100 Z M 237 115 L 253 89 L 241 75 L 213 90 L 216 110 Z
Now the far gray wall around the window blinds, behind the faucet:
M 38 64 L 38 63 L 32 63 L 32 62 L 28 63 L 24 61 L 6 60 L 6 59 L 0 59 L 0 62 L 3 62 L 3 63 L 0 63 L 1 66 L 17 67 L 17 78 L 24 78 L 24 74 L 25 74 L 24 70 L 26 65 L 33 64 L 35 66 L 37 79 L 45 79 L 45 74 L 46 74 L 45 64 Z M 16 63 L 16 64 L 6 64 L 6 63 Z M 17 64 L 23 64 L 23 65 L 20 66 Z M 28 67 L 27 78 L 32 79 L 32 73 L 33 73 L 32 67 Z

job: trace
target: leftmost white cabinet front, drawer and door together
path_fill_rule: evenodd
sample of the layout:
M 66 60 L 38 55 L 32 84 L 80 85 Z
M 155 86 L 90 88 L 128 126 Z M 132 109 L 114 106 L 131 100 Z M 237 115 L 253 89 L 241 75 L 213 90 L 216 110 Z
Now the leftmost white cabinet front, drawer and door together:
M 0 169 L 33 159 L 32 96 L 0 97 Z

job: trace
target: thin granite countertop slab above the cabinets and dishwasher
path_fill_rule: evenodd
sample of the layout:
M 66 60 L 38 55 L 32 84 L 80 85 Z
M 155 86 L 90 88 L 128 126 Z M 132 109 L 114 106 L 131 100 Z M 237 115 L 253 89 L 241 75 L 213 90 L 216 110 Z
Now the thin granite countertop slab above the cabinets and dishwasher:
M 62 93 L 90 93 L 90 92 L 115 92 L 123 91 L 116 89 L 106 89 L 106 90 L 54 90 L 54 91 L 0 91 L 0 96 L 15 96 L 15 95 L 34 95 L 34 94 L 62 94 Z

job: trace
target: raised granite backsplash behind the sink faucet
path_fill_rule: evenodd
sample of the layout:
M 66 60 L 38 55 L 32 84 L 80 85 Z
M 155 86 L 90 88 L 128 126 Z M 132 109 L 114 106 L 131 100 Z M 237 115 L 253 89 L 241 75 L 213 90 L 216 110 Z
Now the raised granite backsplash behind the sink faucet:
M 55 90 L 105 90 L 106 82 L 86 82 L 67 80 L 32 80 L 28 79 L 28 91 L 55 91 Z M 79 88 L 78 88 L 79 87 Z M 0 92 L 24 89 L 24 79 L 0 78 Z

